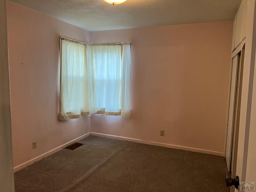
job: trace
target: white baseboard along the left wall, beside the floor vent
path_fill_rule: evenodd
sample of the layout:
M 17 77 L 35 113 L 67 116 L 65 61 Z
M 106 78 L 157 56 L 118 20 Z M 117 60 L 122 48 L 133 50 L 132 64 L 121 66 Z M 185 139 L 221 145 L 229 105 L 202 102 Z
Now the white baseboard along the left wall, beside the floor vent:
M 83 138 L 86 138 L 86 137 L 88 137 L 88 136 L 90 136 L 90 132 L 89 132 L 89 133 L 86 133 L 86 134 L 84 134 L 84 135 L 82 135 L 82 136 L 80 136 L 80 137 L 78 137 L 78 138 L 76 138 L 76 139 L 74 139 L 74 140 L 72 140 L 72 141 L 70 141 L 70 142 L 67 142 L 67 143 L 65 143 L 65 144 L 63 144 L 63 145 L 61 145 L 61 146 L 58 146 L 58 147 L 56 147 L 55 149 L 50 150 L 50 151 L 48 151 L 48 152 L 46 152 L 46 153 L 44 153 L 44 154 L 42 154 L 42 155 L 40 155 L 40 156 L 38 156 L 38 157 L 36 157 L 36 158 L 34 158 L 34 159 L 31 159 L 31 160 L 29 160 L 29 161 L 27 161 L 27 162 L 25 162 L 25 163 L 22 163 L 22 164 L 20 164 L 20 165 L 18 165 L 18 166 L 16 166 L 16 167 L 14 167 L 13 170 L 14 170 L 14 172 L 17 172 L 18 170 L 21 170 L 21 169 L 23 169 L 24 167 L 26 167 L 26 166 L 28 166 L 28 165 L 31 165 L 32 163 L 34 163 L 34 162 L 36 162 L 36 161 L 38 161 L 38 160 L 41 160 L 42 158 L 45 158 L 45 157 L 47 157 L 47 156 L 49 156 L 49 155 L 51 155 L 51 154 L 53 154 L 53 153 L 55 153 L 55 152 L 57 152 L 57 151 L 63 149 L 64 147 L 69 146 L 70 144 L 72 144 L 72 143 L 74 143 L 74 142 L 77 142 L 77 141 L 79 141 L 79 140 L 81 140 L 81 139 L 83 139 Z

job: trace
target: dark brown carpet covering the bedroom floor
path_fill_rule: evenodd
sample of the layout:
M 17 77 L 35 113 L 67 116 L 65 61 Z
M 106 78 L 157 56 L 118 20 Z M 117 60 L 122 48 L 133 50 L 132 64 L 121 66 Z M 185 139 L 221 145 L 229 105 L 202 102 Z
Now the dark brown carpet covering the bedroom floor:
M 14 174 L 16 192 L 229 192 L 223 157 L 89 136 Z

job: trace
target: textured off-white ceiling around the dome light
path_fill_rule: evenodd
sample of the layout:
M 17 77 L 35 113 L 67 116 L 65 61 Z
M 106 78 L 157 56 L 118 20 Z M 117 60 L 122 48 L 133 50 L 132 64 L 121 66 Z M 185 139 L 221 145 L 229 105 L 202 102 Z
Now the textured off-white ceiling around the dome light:
M 241 0 L 11 0 L 95 31 L 234 20 Z

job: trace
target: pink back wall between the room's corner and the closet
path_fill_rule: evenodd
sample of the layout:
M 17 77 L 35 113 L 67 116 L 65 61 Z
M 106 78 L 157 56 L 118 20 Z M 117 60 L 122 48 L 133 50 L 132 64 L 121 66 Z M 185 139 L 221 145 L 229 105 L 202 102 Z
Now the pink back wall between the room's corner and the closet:
M 131 42 L 132 54 L 131 119 L 94 114 L 91 132 L 223 154 L 232 25 L 91 32 L 92 44 Z

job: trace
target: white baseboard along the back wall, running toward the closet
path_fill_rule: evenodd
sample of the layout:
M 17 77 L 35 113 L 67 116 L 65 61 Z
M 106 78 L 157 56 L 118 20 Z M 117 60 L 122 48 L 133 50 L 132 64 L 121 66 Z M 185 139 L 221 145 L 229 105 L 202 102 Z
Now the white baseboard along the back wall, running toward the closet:
M 156 145 L 156 146 L 162 146 L 162 147 L 168 147 L 168 148 L 174 148 L 174 149 L 181 149 L 181 150 L 186 150 L 186 151 L 193 151 L 193 152 L 199 152 L 199 153 L 224 156 L 223 152 L 204 150 L 204 149 L 185 147 L 185 146 L 178 146 L 178 145 L 172 145 L 172 144 L 166 144 L 166 143 L 159 143 L 159 142 L 154 142 L 154 141 L 144 141 L 144 140 L 140 140 L 140 139 L 108 135 L 108 134 L 102 134 L 102 133 L 94 133 L 94 132 L 91 132 L 90 135 L 112 138 L 112 139 L 119 139 L 119 140 L 128 140 L 128 141 L 137 142 L 137 143 L 144 143 L 144 144 L 150 144 L 150 145 Z

